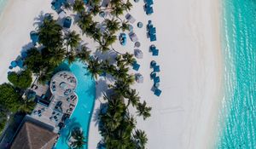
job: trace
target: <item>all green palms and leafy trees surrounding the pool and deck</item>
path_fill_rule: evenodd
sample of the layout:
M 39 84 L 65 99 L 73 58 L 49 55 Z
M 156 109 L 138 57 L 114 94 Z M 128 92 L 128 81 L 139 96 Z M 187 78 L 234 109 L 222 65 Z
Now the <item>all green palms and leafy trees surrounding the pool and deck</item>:
M 103 142 L 108 149 L 143 149 L 148 141 L 143 130 L 136 129 L 136 117 L 132 116 L 128 108 L 137 109 L 137 116 L 143 119 L 150 117 L 151 107 L 146 102 L 141 103 L 136 89 L 131 89 L 135 83 L 133 74 L 129 69 L 135 58 L 133 54 L 120 54 L 112 48 L 117 41 L 117 32 L 129 30 L 127 21 L 119 18 L 125 11 L 129 11 L 132 5 L 129 0 L 111 0 L 108 8 L 102 9 L 100 0 L 89 0 L 85 5 L 82 0 L 75 0 L 74 4 L 66 3 L 65 8 L 73 9 L 77 14 L 75 24 L 86 37 L 92 38 L 96 43 L 96 50 L 107 53 L 116 52 L 115 58 L 100 60 L 96 55 L 91 56 L 91 51 L 83 45 L 79 45 L 81 37 L 71 31 L 64 33 L 62 27 L 52 17 L 45 18 L 43 24 L 38 27 L 39 45 L 27 51 L 25 65 L 27 70 L 11 72 L 9 81 L 15 85 L 4 83 L 0 86 L 0 102 L 11 112 L 31 112 L 34 103 L 27 99 L 21 99 L 17 90 L 30 86 L 32 73 L 38 76 L 40 83 L 46 83 L 52 77 L 56 66 L 64 60 L 69 64 L 75 60 L 81 60 L 88 64 L 88 70 L 92 77 L 97 79 L 103 73 L 113 77 L 113 82 L 108 84 L 108 90 L 112 94 L 103 93 L 107 104 L 107 112 L 99 115 L 100 132 Z M 72 6 L 72 7 L 71 7 Z M 94 16 L 108 9 L 111 17 L 104 18 L 101 22 L 106 29 L 102 32 L 94 20 Z M 111 61 L 111 63 L 110 63 Z M 28 71 L 28 70 L 31 70 Z M 25 79 L 27 78 L 27 79 Z M 2 89 L 3 88 L 3 89 Z M 18 88 L 18 89 L 17 89 Z M 17 90 L 16 90 L 17 89 Z M 4 119 L 3 119 L 4 120 Z M 4 122 L 1 121 L 0 122 Z M 77 140 L 74 146 L 81 148 L 84 145 L 83 132 L 73 134 Z

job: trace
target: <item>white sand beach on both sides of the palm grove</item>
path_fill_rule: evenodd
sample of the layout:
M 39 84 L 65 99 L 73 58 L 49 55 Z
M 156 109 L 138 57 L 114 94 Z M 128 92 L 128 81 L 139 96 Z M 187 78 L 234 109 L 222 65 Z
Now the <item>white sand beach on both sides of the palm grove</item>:
M 220 4 L 212 0 L 154 1 L 154 14 L 149 16 L 143 11 L 143 0 L 133 4 L 131 14 L 144 24 L 143 29 L 137 28 L 137 22 L 133 24 L 142 43 L 143 59 L 137 61 L 144 77 L 144 83 L 134 88 L 153 107 L 146 121 L 137 118 L 137 128 L 148 135 L 147 148 L 211 148 L 217 132 L 222 80 Z M 0 83 L 7 81 L 9 63 L 30 42 L 29 32 L 34 30 L 34 19 L 42 10 L 52 12 L 50 0 L 10 0 L 4 10 L 0 20 Z M 160 49 L 158 57 L 148 52 L 152 44 L 146 37 L 148 20 L 156 27 L 157 42 L 153 44 Z M 125 48 L 120 48 L 119 43 L 113 47 L 133 53 L 133 43 L 130 39 L 127 42 Z M 150 90 L 151 60 L 160 65 L 160 97 Z M 99 105 L 96 100 L 95 112 Z M 89 149 L 96 148 L 99 140 L 92 118 Z

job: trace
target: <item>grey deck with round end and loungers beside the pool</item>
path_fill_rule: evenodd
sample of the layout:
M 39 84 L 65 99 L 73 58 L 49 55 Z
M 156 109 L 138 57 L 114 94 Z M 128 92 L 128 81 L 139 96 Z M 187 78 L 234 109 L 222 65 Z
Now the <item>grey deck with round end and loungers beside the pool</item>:
M 52 125 L 55 133 L 60 130 L 60 123 L 65 117 L 70 117 L 78 102 L 78 95 L 74 93 L 77 80 L 71 72 L 58 72 L 52 77 L 48 85 L 35 84 L 32 89 L 38 96 L 45 95 L 50 89 L 49 106 L 38 102 L 31 116 L 43 123 Z M 42 87 L 42 88 L 41 88 Z

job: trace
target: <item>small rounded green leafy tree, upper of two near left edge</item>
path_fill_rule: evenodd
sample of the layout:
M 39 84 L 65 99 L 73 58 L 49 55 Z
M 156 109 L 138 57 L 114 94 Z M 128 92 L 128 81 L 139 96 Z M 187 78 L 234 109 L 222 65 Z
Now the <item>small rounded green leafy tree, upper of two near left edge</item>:
M 17 72 L 10 72 L 8 75 L 8 80 L 15 87 L 20 89 L 26 89 L 30 87 L 32 83 L 32 72 L 30 70 Z

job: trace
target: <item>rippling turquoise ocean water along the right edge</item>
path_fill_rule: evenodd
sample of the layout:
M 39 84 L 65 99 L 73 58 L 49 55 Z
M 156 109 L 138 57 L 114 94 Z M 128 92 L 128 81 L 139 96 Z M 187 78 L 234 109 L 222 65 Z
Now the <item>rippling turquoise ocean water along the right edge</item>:
M 224 99 L 219 149 L 256 149 L 256 0 L 222 1 Z

